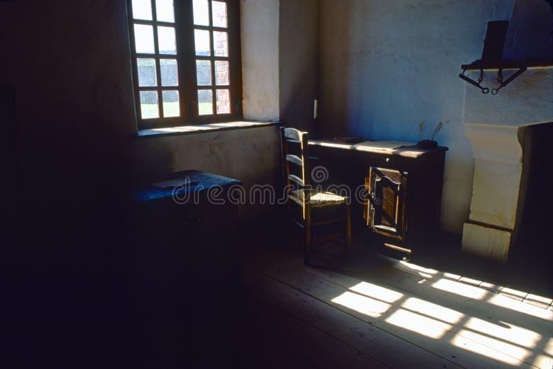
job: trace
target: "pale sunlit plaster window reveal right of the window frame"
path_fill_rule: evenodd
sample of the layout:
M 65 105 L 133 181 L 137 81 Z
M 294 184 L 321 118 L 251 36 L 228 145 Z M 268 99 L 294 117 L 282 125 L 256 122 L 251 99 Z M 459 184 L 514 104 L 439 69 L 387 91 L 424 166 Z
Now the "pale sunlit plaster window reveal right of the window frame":
M 245 119 L 279 120 L 279 0 L 240 3 Z

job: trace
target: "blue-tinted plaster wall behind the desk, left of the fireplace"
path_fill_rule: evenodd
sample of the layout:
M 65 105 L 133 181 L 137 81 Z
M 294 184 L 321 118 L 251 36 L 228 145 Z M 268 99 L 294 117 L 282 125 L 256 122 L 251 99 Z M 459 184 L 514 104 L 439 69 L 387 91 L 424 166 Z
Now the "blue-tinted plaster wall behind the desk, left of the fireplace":
M 474 159 L 462 108 L 460 64 L 482 55 L 487 22 L 508 20 L 514 0 L 321 0 L 319 131 L 449 147 L 442 227 L 469 216 Z

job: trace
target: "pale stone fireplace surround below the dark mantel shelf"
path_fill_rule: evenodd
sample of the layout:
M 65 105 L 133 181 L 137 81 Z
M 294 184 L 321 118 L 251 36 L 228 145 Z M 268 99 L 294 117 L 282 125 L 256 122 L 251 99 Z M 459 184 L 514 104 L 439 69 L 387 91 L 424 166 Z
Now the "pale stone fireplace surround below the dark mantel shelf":
M 503 76 L 515 72 L 504 69 Z M 479 74 L 467 72 L 472 79 Z M 482 86 L 498 86 L 497 76 L 497 69 L 485 70 Z M 529 67 L 498 95 L 482 94 L 467 84 L 462 122 L 475 158 L 462 250 L 507 261 L 527 191 L 525 126 L 553 122 L 553 65 Z

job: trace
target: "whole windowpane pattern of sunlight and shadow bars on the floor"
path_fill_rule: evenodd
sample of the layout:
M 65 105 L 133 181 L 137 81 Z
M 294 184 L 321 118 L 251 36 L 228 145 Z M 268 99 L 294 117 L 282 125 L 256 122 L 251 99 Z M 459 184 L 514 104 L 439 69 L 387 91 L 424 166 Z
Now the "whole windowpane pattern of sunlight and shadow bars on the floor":
M 399 328 L 404 337 L 440 341 L 495 366 L 553 368 L 551 310 L 478 287 L 481 281 L 457 274 L 406 262 L 395 267 L 397 274 L 409 273 L 395 285 L 349 270 L 332 274 L 329 281 L 348 291 L 330 302 L 393 334 Z M 315 274 L 324 278 L 320 271 Z

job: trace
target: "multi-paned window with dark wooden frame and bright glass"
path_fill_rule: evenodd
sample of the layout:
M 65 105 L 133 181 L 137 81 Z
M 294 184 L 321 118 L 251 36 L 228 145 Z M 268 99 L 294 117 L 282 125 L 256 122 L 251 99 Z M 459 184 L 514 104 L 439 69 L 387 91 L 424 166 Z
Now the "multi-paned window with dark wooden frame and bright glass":
M 241 119 L 237 0 L 128 0 L 139 129 Z

